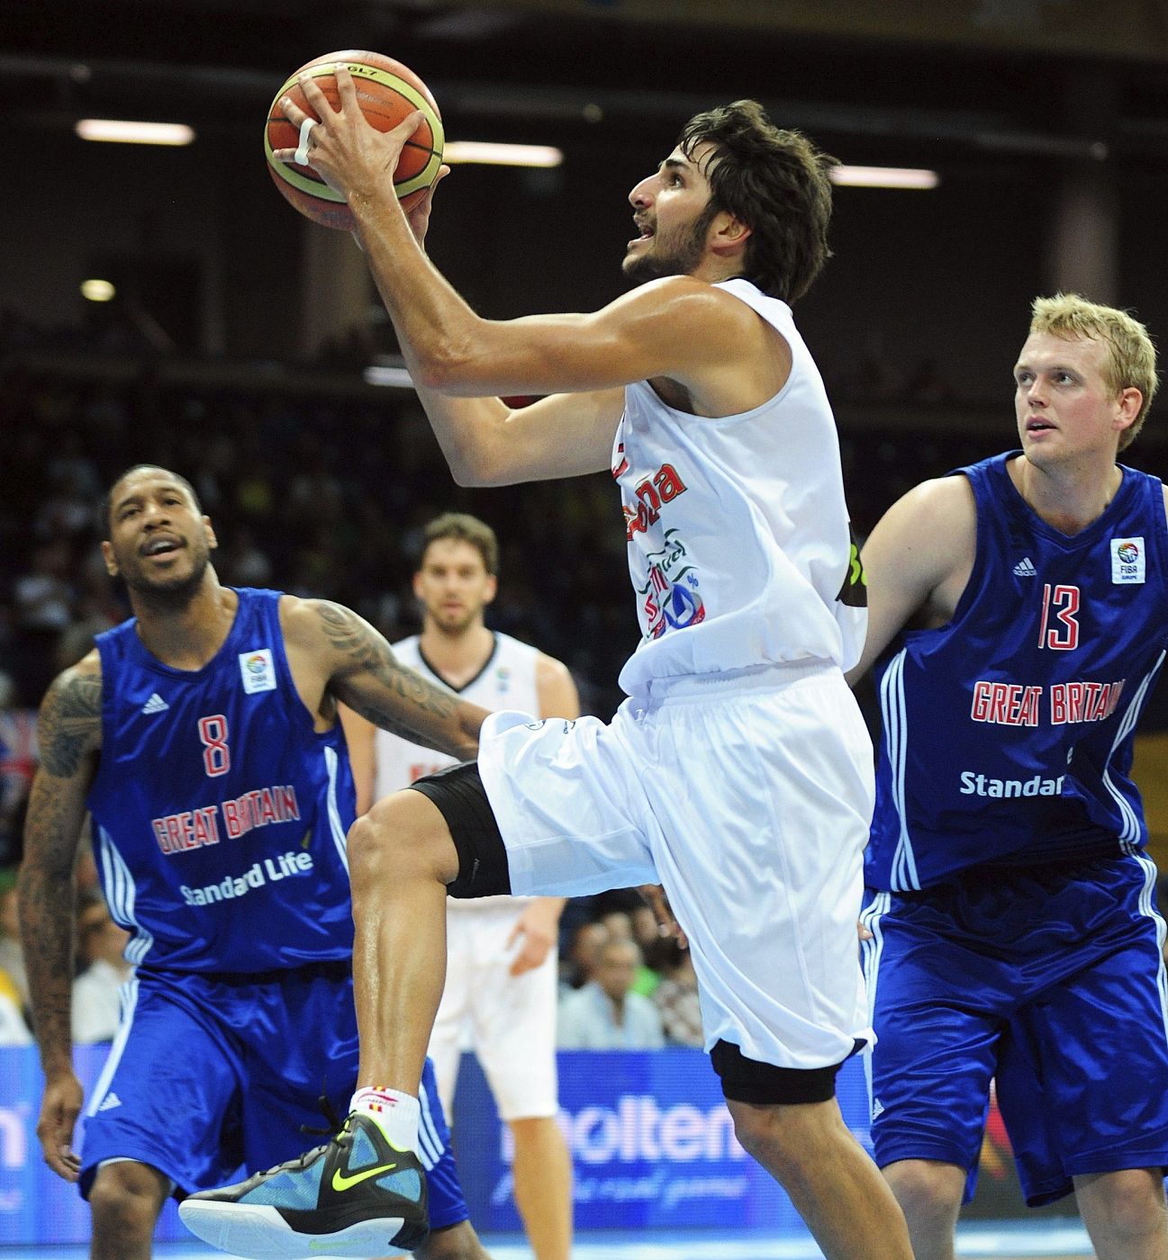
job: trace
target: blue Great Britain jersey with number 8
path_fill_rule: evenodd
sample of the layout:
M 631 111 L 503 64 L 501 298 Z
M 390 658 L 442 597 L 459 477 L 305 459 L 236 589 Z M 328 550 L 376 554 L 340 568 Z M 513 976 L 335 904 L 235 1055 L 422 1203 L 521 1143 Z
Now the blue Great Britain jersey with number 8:
M 344 737 L 317 733 L 296 693 L 280 593 L 237 593 L 198 670 L 153 656 L 135 619 L 97 638 L 95 854 L 126 958 L 148 968 L 251 974 L 352 950 Z

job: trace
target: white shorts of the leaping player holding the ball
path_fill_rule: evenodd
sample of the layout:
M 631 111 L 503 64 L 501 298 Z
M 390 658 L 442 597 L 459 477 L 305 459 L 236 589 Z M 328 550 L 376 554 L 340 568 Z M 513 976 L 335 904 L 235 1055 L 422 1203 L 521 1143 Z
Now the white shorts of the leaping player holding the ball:
M 608 726 L 496 713 L 478 765 L 512 892 L 665 886 L 708 1051 L 810 1070 L 874 1040 L 856 940 L 873 752 L 838 668 L 656 682 Z

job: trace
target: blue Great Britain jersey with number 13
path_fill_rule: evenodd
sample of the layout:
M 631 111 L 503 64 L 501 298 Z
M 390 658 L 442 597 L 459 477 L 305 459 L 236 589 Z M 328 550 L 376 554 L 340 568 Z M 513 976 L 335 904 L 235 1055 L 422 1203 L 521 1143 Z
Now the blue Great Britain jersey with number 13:
M 1106 512 L 1067 537 L 1015 489 L 1018 454 L 957 470 L 978 510 L 969 585 L 950 622 L 903 634 L 878 664 L 869 887 L 1147 842 L 1129 771 L 1168 646 L 1163 488 L 1124 467 Z

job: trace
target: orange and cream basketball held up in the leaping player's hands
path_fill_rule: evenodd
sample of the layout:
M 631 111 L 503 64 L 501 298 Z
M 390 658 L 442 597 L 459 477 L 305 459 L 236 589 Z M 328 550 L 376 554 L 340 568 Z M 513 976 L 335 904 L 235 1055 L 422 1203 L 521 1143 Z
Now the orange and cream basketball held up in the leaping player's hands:
M 315 118 L 315 111 L 296 82 L 301 74 L 309 74 L 336 108 L 338 93 L 334 68 L 338 63 L 353 76 L 361 112 L 378 131 L 391 131 L 414 110 L 421 110 L 425 115 L 418 131 L 406 141 L 394 174 L 394 186 L 405 209 L 416 205 L 438 178 L 444 137 L 438 103 L 430 89 L 407 66 L 395 62 L 392 57 L 354 50 L 325 53 L 290 74 L 267 111 L 267 125 L 264 129 L 267 171 L 285 199 L 301 214 L 327 228 L 349 232 L 353 228 L 353 215 L 338 192 L 329 188 L 312 166 L 277 161 L 272 156 L 276 149 L 295 149 L 300 141 L 300 129 L 284 116 L 281 98 L 288 96 Z

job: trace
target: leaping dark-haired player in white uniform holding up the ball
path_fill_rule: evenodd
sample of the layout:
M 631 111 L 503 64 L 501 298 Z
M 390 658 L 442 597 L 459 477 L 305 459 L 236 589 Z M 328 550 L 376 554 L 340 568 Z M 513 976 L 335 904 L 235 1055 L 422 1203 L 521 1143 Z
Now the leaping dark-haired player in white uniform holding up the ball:
M 376 1124 L 390 1147 L 415 1140 L 448 887 L 662 883 L 739 1140 L 830 1260 L 908 1260 L 903 1216 L 835 1100 L 840 1065 L 873 1036 L 855 940 L 873 755 L 843 675 L 867 617 L 843 602 L 860 570 L 839 442 L 788 305 L 829 253 L 831 159 L 754 102 L 698 115 L 629 194 L 624 271 L 646 284 L 592 315 L 486 320 L 420 247 L 429 204 L 407 218 L 394 197 L 420 115 L 380 134 L 344 67 L 337 82 L 337 110 L 301 84 L 322 120 L 304 129 L 308 158 L 354 214 L 455 480 L 610 469 L 643 633 L 610 724 L 492 714 L 477 765 L 423 779 L 353 827 L 368 1089 L 348 1123 Z M 520 393 L 546 397 L 522 411 L 501 401 Z M 305 1200 L 320 1171 L 274 1177 Z M 260 1227 L 236 1188 L 212 1196 L 226 1222 Z M 337 1198 L 314 1200 L 322 1222 L 349 1211 Z M 388 1227 L 375 1198 L 362 1211 Z

